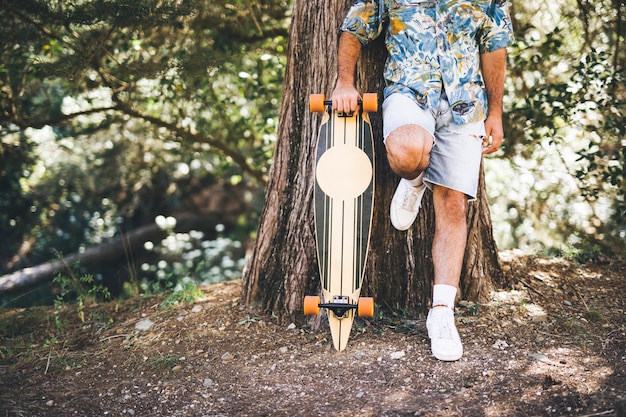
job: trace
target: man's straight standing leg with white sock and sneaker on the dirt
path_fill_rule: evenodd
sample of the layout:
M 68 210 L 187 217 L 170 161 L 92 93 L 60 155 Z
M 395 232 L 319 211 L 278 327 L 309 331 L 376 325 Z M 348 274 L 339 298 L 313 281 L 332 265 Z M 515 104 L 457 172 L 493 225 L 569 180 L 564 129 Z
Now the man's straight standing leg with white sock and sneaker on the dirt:
M 461 338 L 454 324 L 454 298 L 467 240 L 467 196 L 460 191 L 435 186 L 433 205 L 435 286 L 426 327 L 433 355 L 440 360 L 455 361 L 463 355 Z

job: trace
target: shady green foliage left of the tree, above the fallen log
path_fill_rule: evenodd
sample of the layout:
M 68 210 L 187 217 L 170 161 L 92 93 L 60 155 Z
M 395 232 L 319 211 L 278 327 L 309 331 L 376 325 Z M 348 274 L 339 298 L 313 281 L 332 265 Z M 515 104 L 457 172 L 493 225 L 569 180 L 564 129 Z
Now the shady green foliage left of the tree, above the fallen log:
M 276 139 L 289 3 L 0 5 L 0 274 L 197 210 L 192 195 L 222 179 L 253 211 L 229 238 L 248 238 Z

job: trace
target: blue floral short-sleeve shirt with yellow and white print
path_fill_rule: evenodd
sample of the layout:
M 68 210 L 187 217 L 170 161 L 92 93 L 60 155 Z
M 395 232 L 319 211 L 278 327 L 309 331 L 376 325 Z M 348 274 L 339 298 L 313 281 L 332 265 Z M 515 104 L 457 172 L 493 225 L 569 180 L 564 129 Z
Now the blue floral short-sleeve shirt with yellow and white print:
M 510 0 L 356 0 L 341 25 L 362 44 L 385 32 L 385 97 L 403 93 L 435 114 L 442 93 L 455 123 L 487 117 L 480 54 L 513 41 Z

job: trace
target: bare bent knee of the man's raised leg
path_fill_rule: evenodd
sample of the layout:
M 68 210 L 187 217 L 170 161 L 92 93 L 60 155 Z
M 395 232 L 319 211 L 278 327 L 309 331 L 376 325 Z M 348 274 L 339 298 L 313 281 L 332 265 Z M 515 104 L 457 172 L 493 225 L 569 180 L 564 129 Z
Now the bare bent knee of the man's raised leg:
M 417 125 L 400 126 L 385 141 L 391 169 L 404 178 L 412 178 L 424 171 L 430 161 L 433 138 Z

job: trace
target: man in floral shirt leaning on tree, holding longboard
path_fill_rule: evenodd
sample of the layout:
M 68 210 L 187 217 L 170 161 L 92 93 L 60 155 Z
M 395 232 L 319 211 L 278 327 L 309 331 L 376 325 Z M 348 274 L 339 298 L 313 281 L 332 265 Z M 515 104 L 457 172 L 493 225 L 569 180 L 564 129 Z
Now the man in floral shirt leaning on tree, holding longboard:
M 468 201 L 475 199 L 482 154 L 504 136 L 506 49 L 513 37 L 508 0 L 356 0 L 341 26 L 333 107 L 358 108 L 354 87 L 361 46 L 385 32 L 383 136 L 401 177 L 391 222 L 413 224 L 432 190 L 434 289 L 426 327 L 433 355 L 454 361 L 463 345 L 454 322 Z

